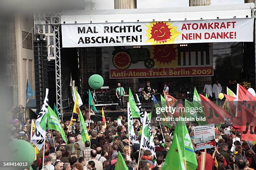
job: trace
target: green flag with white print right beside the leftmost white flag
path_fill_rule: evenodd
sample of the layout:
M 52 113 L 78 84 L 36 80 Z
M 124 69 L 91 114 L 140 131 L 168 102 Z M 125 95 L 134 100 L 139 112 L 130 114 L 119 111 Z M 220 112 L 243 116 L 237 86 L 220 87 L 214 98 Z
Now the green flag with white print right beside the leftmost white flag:
M 53 129 L 53 130 L 59 131 L 62 139 L 67 144 L 66 135 L 64 133 L 64 130 L 61 128 L 61 124 L 59 122 L 59 117 L 55 114 L 55 112 L 51 109 L 50 106 L 48 106 L 47 126 L 48 126 L 48 129 Z

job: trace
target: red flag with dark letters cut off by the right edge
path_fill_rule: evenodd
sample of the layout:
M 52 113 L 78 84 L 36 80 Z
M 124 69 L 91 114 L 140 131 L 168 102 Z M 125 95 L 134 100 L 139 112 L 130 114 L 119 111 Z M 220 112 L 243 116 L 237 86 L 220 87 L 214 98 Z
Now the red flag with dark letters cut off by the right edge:
M 256 141 L 256 114 L 244 106 L 242 109 L 241 140 Z

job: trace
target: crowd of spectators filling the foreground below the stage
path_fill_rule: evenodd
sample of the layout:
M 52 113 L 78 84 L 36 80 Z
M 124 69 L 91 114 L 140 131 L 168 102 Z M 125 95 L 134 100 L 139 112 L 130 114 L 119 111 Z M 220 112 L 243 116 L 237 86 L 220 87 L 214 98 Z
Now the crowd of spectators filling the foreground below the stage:
M 72 128 L 70 121 L 61 121 L 68 143 L 61 138 L 58 131 L 48 130 L 44 152 L 44 170 L 114 170 L 118 152 L 123 156 L 129 170 L 161 170 L 166 155 L 172 145 L 175 126 L 172 130 L 160 125 L 152 118 L 151 129 L 154 135 L 155 153 L 141 150 L 140 144 L 130 143 L 128 139 L 128 122 L 126 117 L 120 116 L 122 125 L 117 120 L 106 117 L 105 122 L 90 124 L 90 141 L 82 142 L 79 122 L 74 121 Z M 35 121 L 35 120 L 34 120 Z M 141 139 L 142 125 L 138 119 L 133 119 L 134 131 L 138 140 Z M 187 122 L 187 130 L 193 140 L 195 124 Z M 15 123 L 10 128 L 10 140 L 22 139 L 30 142 L 31 120 L 25 124 Z M 164 138 L 163 138 L 164 137 Z M 197 170 L 201 170 L 201 155 L 206 152 L 205 170 L 253 170 L 256 169 L 256 145 L 250 141 L 241 141 L 238 131 L 232 127 L 221 125 L 215 128 L 215 148 L 196 150 Z M 130 146 L 130 147 L 129 147 Z M 43 148 L 38 152 L 37 158 L 31 166 L 33 170 L 41 170 L 43 166 Z M 172 170 L 172 165 L 170 165 Z

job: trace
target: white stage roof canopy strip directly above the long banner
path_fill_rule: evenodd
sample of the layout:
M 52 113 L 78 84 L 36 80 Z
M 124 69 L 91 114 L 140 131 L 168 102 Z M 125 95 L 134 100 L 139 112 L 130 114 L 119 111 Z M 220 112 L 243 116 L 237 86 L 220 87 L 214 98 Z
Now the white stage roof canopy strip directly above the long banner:
M 254 3 L 156 9 L 66 10 L 61 24 L 135 23 L 154 21 L 251 18 Z

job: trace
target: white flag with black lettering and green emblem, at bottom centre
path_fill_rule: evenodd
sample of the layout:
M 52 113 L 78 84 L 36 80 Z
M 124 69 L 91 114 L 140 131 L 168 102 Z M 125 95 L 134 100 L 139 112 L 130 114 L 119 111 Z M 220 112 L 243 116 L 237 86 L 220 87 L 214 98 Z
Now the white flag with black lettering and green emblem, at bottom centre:
M 151 130 L 150 121 L 148 119 L 147 112 L 144 113 L 143 128 L 141 134 L 141 149 L 149 150 L 156 156 L 154 136 Z

